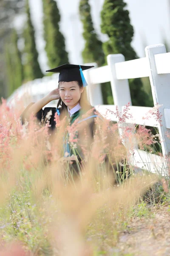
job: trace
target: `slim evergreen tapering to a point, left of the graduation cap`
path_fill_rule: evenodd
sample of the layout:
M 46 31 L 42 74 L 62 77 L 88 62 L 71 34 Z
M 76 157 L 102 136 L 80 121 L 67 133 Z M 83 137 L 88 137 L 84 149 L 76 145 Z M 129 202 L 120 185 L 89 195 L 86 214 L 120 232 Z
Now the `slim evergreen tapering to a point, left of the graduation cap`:
M 38 63 L 38 52 L 35 44 L 35 32 L 31 22 L 29 2 L 26 0 L 27 24 L 23 36 L 25 39 L 24 79 L 26 81 L 42 78 L 43 74 Z

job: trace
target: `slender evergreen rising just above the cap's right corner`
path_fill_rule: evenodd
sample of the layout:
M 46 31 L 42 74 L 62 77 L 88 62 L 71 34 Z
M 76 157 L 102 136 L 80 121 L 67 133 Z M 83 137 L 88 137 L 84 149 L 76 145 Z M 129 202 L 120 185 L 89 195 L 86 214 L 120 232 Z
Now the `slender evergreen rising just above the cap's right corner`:
M 80 0 L 80 19 L 83 23 L 83 38 L 85 48 L 82 51 L 82 58 L 85 63 L 96 62 L 99 66 L 105 63 L 105 54 L 102 49 L 102 41 L 97 37 L 91 18 L 91 6 L 88 0 Z

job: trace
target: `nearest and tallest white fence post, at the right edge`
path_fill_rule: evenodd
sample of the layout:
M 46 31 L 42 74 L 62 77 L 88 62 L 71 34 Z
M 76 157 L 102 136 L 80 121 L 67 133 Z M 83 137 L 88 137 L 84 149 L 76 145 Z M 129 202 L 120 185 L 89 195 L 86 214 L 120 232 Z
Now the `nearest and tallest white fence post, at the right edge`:
M 166 128 L 164 109 L 170 108 L 170 74 L 158 74 L 156 69 L 156 54 L 166 53 L 164 44 L 151 45 L 145 48 L 146 57 L 149 63 L 149 78 L 153 95 L 153 102 L 156 106 L 161 105 L 159 113 L 161 116 L 161 125 L 159 125 L 159 134 L 162 138 L 161 146 L 163 155 L 170 152 L 170 140 L 166 136 L 168 129 Z

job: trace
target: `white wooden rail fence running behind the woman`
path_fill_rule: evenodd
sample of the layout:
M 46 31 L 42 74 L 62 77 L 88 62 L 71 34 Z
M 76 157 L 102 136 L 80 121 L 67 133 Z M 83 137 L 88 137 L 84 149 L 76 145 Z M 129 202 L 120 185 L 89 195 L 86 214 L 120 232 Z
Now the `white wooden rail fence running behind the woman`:
M 107 109 L 115 112 L 116 105 L 119 111 L 122 112 L 128 102 L 131 105 L 128 79 L 148 76 L 154 105 L 161 105 L 159 108 L 159 112 L 162 115 L 161 125 L 153 117 L 142 119 L 152 108 L 136 106 L 130 106 L 130 113 L 133 119 L 127 119 L 126 123 L 158 127 L 162 138 L 161 146 L 164 157 L 134 148 L 129 161 L 137 168 L 168 175 L 167 155 L 170 153 L 170 140 L 166 134 L 170 129 L 170 52 L 166 53 L 166 48 L 163 44 L 148 46 L 145 48 L 145 52 L 145 58 L 132 61 L 125 61 L 122 54 L 108 55 L 108 65 L 96 67 L 95 64 L 95 68 L 86 70 L 84 74 L 89 84 L 88 97 L 91 105 L 96 106 L 102 114 L 106 114 Z M 24 84 L 13 93 L 9 100 L 13 99 L 15 94 L 18 96 L 23 95 L 23 92 L 29 93 L 34 100 L 40 99 L 57 87 L 58 75 L 54 74 L 51 77 L 36 79 Z M 102 102 L 101 86 L 102 83 L 108 81 L 111 81 L 115 105 L 103 105 Z M 107 117 L 117 121 L 116 117 L 109 112 Z

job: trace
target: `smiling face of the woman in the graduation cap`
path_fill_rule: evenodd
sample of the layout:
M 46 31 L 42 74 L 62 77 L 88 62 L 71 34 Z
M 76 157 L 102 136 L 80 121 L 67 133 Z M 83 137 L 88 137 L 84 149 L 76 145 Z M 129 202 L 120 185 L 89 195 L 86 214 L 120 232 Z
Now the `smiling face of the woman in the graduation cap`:
M 83 90 L 84 88 L 80 88 L 76 81 L 59 83 L 59 95 L 70 110 L 79 103 Z

